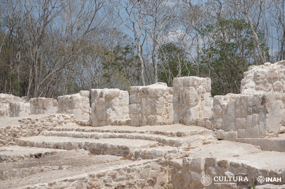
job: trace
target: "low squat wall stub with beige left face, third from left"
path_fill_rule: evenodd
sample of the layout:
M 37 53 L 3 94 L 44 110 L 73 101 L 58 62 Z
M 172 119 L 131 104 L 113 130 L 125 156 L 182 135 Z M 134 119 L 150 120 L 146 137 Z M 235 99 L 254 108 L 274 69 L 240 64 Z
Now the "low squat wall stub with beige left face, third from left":
M 57 100 L 54 98 L 31 98 L 31 114 L 56 114 Z

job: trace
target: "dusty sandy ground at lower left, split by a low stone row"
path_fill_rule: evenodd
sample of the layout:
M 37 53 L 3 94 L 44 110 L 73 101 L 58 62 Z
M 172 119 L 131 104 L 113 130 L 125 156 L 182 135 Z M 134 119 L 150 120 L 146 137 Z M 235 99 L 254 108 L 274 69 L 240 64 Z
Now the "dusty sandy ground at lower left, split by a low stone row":
M 24 185 L 54 181 L 59 178 L 98 171 L 115 165 L 123 165 L 132 162 L 123 160 L 121 156 L 94 155 L 80 150 L 58 152 L 54 156 L 40 159 L 22 160 L 17 162 L 1 163 L 1 171 L 12 169 L 24 169 L 43 166 L 59 166 L 60 170 L 42 171 L 26 177 L 15 177 L 0 181 L 0 188 L 17 188 Z

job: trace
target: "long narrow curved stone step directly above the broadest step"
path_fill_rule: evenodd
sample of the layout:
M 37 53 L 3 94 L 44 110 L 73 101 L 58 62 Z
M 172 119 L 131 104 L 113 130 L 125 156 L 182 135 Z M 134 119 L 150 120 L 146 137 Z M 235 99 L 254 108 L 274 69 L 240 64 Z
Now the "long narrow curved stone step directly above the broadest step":
M 44 136 L 57 136 L 57 137 L 73 137 L 73 138 L 125 138 L 125 139 L 140 139 L 157 141 L 160 144 L 181 147 L 188 146 L 183 138 L 166 137 L 164 135 L 155 135 L 149 133 L 100 133 L 100 132 L 81 132 L 81 131 L 42 131 Z

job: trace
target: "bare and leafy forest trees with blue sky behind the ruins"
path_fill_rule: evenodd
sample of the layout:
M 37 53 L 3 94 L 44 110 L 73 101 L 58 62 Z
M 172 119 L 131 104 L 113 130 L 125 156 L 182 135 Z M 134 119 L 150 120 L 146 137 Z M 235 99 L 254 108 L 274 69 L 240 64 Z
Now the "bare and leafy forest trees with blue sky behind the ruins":
M 0 0 L 0 92 L 49 97 L 210 77 L 285 59 L 283 0 Z

